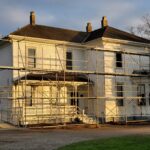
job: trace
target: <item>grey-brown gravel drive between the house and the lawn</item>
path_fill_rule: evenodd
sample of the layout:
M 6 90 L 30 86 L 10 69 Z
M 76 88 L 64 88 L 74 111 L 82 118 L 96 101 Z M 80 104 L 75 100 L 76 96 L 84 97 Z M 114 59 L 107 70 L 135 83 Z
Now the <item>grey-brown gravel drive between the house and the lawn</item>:
M 96 138 L 150 134 L 150 126 L 109 126 L 95 129 L 0 129 L 0 150 L 54 150 Z

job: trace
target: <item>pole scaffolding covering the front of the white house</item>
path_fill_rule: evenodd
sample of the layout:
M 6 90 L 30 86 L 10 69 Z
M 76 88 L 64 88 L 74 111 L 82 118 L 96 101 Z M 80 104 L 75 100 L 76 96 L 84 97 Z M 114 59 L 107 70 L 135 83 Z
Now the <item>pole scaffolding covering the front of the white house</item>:
M 47 53 L 44 43 L 37 52 L 15 42 L 13 65 L 0 65 L 13 78 L 0 87 L 2 121 L 26 126 L 150 120 L 149 49 L 55 44 Z

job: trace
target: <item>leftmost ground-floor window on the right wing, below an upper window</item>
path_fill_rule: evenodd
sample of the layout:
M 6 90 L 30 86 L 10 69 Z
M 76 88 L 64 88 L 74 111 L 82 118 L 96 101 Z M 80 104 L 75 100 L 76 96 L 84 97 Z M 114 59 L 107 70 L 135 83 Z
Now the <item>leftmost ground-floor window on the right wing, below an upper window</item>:
M 117 83 L 116 90 L 116 96 L 118 97 L 116 105 L 123 106 L 123 84 Z

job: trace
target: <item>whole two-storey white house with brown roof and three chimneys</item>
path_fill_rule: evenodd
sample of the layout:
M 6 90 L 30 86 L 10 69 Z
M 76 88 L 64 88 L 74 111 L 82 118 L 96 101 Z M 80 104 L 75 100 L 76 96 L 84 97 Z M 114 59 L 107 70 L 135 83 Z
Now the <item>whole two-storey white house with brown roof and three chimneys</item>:
M 110 27 L 35 23 L 0 42 L 1 120 L 14 125 L 150 118 L 150 41 Z

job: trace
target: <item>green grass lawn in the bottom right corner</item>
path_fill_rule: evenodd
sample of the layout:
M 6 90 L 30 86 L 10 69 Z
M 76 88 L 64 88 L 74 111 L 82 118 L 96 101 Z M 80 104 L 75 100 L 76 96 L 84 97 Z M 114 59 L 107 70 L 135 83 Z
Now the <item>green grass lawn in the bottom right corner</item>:
M 67 145 L 58 150 L 150 150 L 150 135 L 97 139 Z

